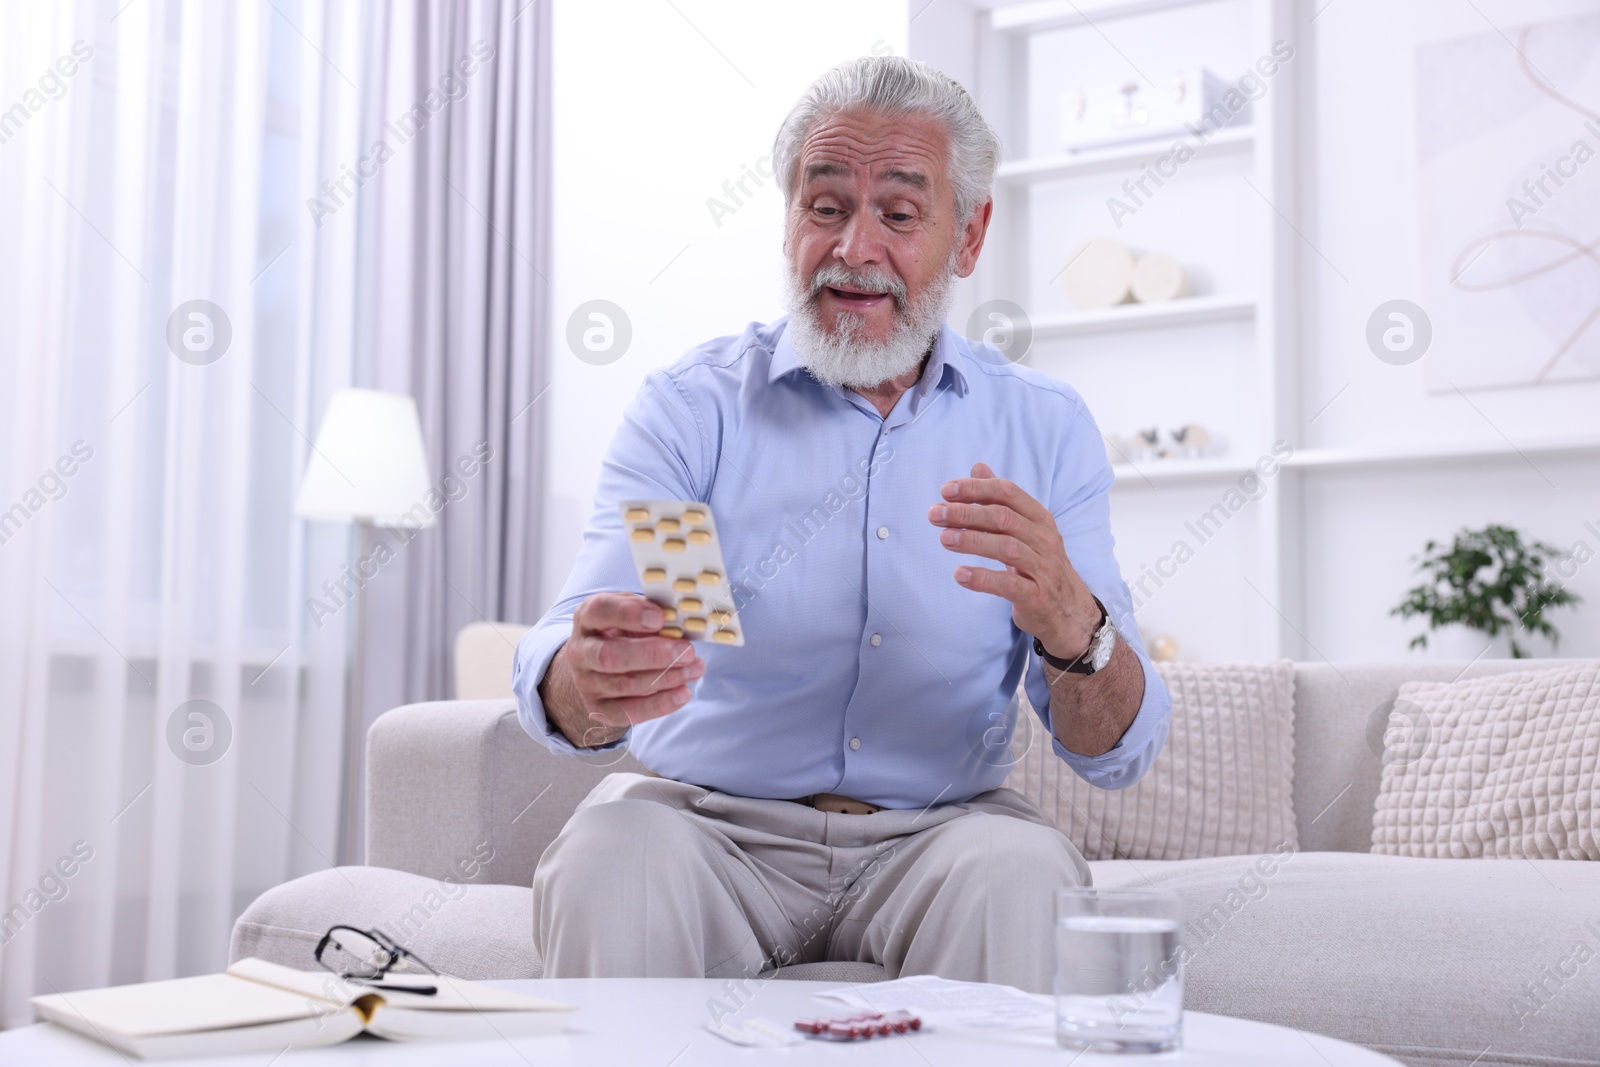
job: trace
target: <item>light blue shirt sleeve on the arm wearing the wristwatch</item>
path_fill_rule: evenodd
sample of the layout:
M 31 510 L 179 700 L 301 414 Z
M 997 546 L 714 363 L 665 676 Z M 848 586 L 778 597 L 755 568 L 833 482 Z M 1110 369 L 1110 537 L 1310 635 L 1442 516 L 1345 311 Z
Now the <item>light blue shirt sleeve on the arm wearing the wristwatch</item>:
M 1166 729 L 1171 723 L 1173 699 L 1166 685 L 1155 672 L 1155 665 L 1144 651 L 1144 640 L 1139 637 L 1139 625 L 1133 617 L 1133 597 L 1128 584 L 1122 579 L 1114 553 L 1110 534 L 1110 486 L 1112 470 L 1106 459 L 1106 446 L 1099 435 L 1099 427 L 1082 408 L 1070 422 L 1067 446 L 1061 450 L 1056 485 L 1067 491 L 1061 502 L 1051 501 L 1051 512 L 1061 530 L 1061 539 L 1067 549 L 1067 558 L 1083 577 L 1110 616 L 1120 638 L 1139 657 L 1144 669 L 1144 699 L 1133 723 L 1110 747 L 1101 755 L 1080 755 L 1072 752 L 1054 736 L 1050 720 L 1050 685 L 1045 681 L 1043 662 L 1029 653 L 1027 675 L 1024 688 L 1029 704 L 1051 731 L 1051 745 L 1058 757 L 1070 766 L 1078 777 L 1101 789 L 1126 789 L 1133 785 L 1155 763 L 1162 745 L 1166 744 Z

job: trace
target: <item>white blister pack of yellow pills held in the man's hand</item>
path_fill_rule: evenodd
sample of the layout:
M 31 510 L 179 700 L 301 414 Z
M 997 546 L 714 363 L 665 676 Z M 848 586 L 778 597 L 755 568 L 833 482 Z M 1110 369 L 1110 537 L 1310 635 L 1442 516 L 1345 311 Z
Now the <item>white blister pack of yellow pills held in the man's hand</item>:
M 640 587 L 667 616 L 661 635 L 744 645 L 710 507 L 698 501 L 622 501 L 618 510 Z

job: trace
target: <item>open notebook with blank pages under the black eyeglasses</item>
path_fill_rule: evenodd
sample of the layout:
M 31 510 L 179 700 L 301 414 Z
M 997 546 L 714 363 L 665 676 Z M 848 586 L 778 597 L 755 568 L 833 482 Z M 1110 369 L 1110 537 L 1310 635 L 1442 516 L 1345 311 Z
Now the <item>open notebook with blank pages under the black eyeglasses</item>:
M 573 1005 L 443 976 L 390 976 L 427 984 L 432 997 L 373 990 L 328 971 L 240 960 L 226 974 L 34 997 L 38 1014 L 139 1059 L 277 1053 L 338 1045 L 362 1030 L 395 1041 L 514 1038 L 555 1033 Z

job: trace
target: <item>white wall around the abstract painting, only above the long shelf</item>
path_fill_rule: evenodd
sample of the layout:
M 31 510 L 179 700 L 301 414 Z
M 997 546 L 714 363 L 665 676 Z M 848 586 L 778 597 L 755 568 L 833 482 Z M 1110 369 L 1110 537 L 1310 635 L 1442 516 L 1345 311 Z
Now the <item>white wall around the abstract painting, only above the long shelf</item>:
M 1418 45 L 1494 29 L 1515 40 L 1520 26 L 1597 11 L 1595 0 L 1341 0 L 1317 19 L 1301 70 L 1309 75 L 1302 173 L 1310 208 L 1301 229 L 1322 253 L 1302 259 L 1306 418 L 1350 387 L 1317 419 L 1314 443 L 1502 445 L 1507 437 L 1528 443 L 1600 429 L 1600 381 L 1474 390 L 1467 403 L 1454 392 L 1426 390 L 1429 357 L 1390 366 L 1374 360 L 1365 341 L 1378 304 L 1429 302 L 1418 256 Z M 1581 120 L 1571 128 L 1582 133 Z M 1437 358 L 1472 344 L 1448 317 L 1432 314 Z

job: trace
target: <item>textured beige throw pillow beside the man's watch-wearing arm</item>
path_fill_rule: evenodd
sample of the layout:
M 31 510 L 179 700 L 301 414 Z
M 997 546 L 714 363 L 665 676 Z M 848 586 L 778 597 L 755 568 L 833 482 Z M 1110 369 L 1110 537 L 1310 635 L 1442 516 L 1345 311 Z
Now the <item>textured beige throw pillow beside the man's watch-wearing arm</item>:
M 1197 859 L 1298 848 L 1294 664 L 1158 664 L 1173 694 L 1166 747 L 1136 785 L 1077 777 L 1035 729 L 1006 785 L 1085 859 Z M 1021 733 L 1021 731 L 1019 731 Z

